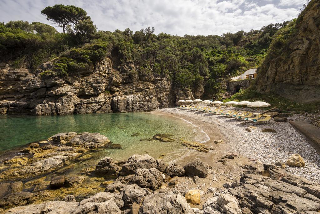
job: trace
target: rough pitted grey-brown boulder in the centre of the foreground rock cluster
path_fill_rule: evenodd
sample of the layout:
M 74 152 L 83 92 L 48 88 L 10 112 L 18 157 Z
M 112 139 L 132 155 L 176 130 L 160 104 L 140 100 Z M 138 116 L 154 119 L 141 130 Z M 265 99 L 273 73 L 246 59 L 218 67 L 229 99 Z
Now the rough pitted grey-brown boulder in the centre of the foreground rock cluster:
M 161 172 L 156 168 L 137 169 L 131 182 L 140 187 L 156 190 L 162 185 L 163 179 Z

